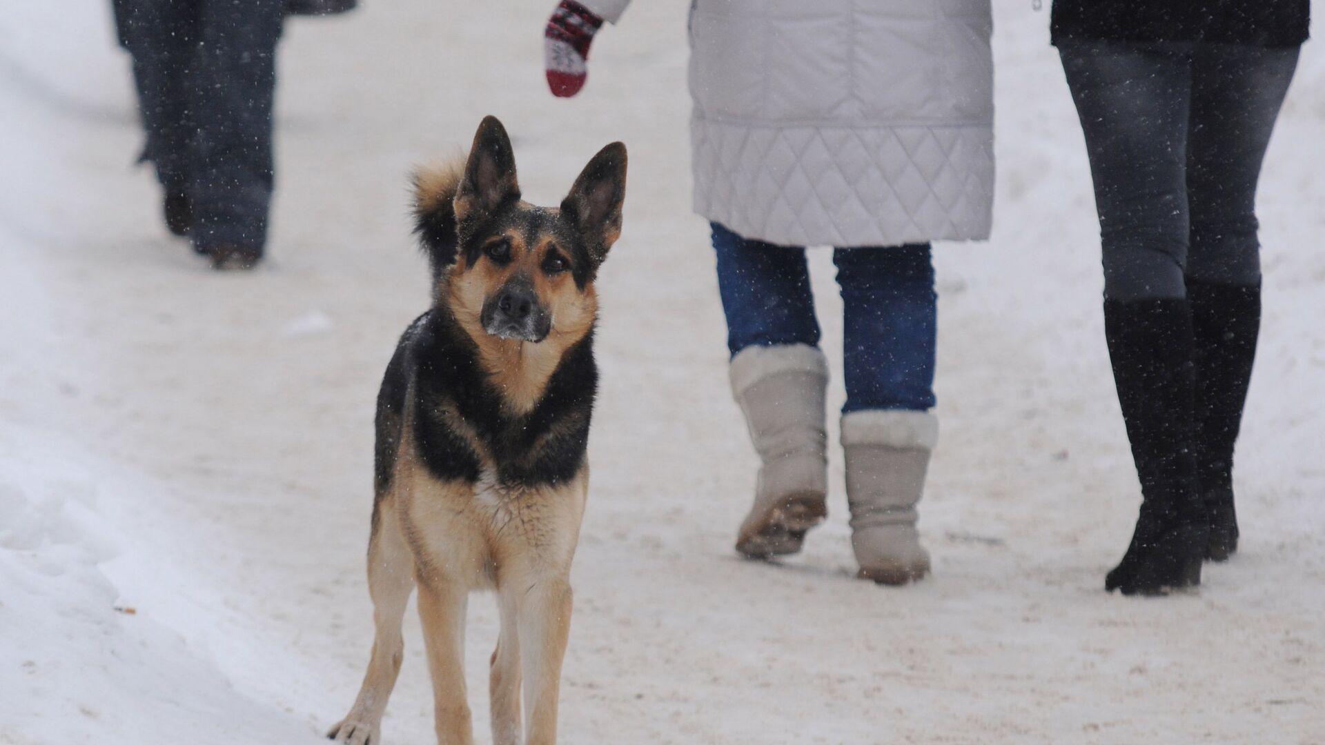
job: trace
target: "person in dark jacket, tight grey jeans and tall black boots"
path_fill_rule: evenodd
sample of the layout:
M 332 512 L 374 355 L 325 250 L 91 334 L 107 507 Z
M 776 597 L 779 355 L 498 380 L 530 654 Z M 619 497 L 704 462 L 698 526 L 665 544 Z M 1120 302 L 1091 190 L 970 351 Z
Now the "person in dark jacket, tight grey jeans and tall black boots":
M 1232 455 L 1260 327 L 1256 182 L 1308 15 L 1308 0 L 1053 3 L 1142 494 L 1110 591 L 1199 585 L 1203 559 L 1238 547 Z

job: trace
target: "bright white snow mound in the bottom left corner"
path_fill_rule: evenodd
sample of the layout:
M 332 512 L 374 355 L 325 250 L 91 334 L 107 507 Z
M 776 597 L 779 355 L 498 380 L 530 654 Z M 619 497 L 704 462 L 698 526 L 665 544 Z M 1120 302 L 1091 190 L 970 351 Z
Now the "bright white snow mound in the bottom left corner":
M 150 479 L 32 428 L 0 448 L 0 741 L 314 741 L 235 689 L 204 640 L 242 626 L 107 505 L 150 504 Z

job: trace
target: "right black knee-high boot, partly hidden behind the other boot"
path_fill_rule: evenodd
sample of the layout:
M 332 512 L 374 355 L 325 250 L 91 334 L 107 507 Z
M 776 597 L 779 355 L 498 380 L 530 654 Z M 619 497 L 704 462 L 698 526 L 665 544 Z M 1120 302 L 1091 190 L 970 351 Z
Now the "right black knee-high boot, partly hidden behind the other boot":
M 1210 517 L 1206 558 L 1238 550 L 1234 443 L 1260 334 L 1260 285 L 1187 281 L 1196 363 L 1196 484 Z

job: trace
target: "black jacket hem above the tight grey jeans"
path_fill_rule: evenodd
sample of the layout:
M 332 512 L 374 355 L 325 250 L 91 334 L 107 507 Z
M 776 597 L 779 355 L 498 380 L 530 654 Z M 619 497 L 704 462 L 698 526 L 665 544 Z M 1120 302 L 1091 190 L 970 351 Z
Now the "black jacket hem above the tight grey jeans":
M 1053 0 L 1049 33 L 1105 41 L 1208 41 L 1297 46 L 1310 0 Z

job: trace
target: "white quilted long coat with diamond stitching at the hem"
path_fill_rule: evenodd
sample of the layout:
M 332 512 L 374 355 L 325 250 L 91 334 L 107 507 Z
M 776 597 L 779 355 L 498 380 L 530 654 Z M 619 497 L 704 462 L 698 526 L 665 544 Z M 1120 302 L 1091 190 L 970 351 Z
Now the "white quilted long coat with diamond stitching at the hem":
M 990 0 L 696 0 L 696 212 L 787 245 L 988 237 L 991 30 Z

